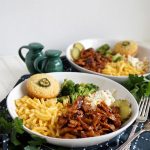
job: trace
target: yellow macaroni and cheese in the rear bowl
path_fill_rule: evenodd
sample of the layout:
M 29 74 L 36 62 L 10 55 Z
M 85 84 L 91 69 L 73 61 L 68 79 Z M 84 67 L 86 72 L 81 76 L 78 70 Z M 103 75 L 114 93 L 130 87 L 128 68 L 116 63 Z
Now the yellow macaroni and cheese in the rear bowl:
M 118 62 L 107 63 L 105 68 L 102 70 L 103 74 L 113 76 L 128 76 L 129 74 L 144 74 L 143 69 L 137 69 L 133 67 L 129 62 L 124 60 Z

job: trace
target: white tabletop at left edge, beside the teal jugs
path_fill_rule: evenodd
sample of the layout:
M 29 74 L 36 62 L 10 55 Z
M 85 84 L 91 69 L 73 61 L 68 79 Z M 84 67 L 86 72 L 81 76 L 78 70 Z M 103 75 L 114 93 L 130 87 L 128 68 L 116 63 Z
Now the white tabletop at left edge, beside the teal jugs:
M 18 56 L 0 56 L 0 101 L 24 74 L 29 74 L 29 71 Z

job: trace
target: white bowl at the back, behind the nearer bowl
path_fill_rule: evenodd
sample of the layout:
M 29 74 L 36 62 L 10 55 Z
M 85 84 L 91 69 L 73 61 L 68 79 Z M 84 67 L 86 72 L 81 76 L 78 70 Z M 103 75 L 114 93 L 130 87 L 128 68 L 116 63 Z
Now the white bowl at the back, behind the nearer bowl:
M 85 39 L 85 40 L 81 40 L 81 41 L 76 41 L 76 42 L 80 42 L 84 45 L 85 49 L 87 48 L 98 48 L 100 45 L 103 45 L 103 44 L 109 44 L 111 47 L 113 47 L 115 45 L 116 42 L 118 42 L 119 40 L 105 40 L 105 39 Z M 74 43 L 76 43 L 74 42 Z M 69 45 L 67 47 L 67 50 L 66 50 L 66 57 L 68 59 L 68 61 L 71 63 L 71 65 L 73 67 L 75 67 L 77 70 L 81 71 L 81 72 L 87 72 L 87 73 L 93 73 L 93 74 L 97 74 L 97 75 L 101 75 L 101 76 L 104 76 L 104 77 L 107 77 L 107 78 L 110 78 L 112 80 L 115 80 L 117 82 L 123 82 L 125 80 L 127 80 L 128 76 L 112 76 L 112 75 L 106 75 L 106 74 L 102 74 L 102 73 L 98 73 L 98 72 L 95 72 L 95 71 L 91 71 L 91 70 L 88 70 L 88 69 L 85 69 L 83 67 L 80 67 L 79 65 L 75 64 L 73 62 L 73 58 L 71 56 L 71 49 L 74 45 L 74 43 L 72 43 L 71 45 Z M 138 43 L 138 55 L 137 57 L 142 59 L 144 57 L 147 57 L 148 60 L 150 60 L 150 48 L 148 48 L 146 45 L 142 44 L 142 43 Z M 144 76 L 147 76 L 149 75 L 150 72 L 144 74 Z

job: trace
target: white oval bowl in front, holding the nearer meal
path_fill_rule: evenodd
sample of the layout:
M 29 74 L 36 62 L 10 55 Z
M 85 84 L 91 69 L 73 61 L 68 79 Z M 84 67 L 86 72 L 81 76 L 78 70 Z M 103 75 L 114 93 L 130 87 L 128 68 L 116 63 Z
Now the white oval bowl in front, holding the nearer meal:
M 65 147 L 81 147 L 81 146 L 91 146 L 103 143 L 107 140 L 112 139 L 113 137 L 120 134 L 122 131 L 124 131 L 126 128 L 128 128 L 136 119 L 138 115 L 138 104 L 135 100 L 135 98 L 132 96 L 132 94 L 124 88 L 119 83 L 110 80 L 105 77 L 101 77 L 94 74 L 87 74 L 87 73 L 78 73 L 78 72 L 57 72 L 57 73 L 50 73 L 52 76 L 54 76 L 60 83 L 64 81 L 64 79 L 71 79 L 76 83 L 93 83 L 100 87 L 100 89 L 109 89 L 109 90 L 116 90 L 116 99 L 127 99 L 131 103 L 132 108 L 132 115 L 131 117 L 122 125 L 122 127 L 109 134 L 96 136 L 96 137 L 89 137 L 89 138 L 80 138 L 80 139 L 62 139 L 62 138 L 53 138 L 44 136 L 41 134 L 38 134 L 36 132 L 31 131 L 27 127 L 23 126 L 23 128 L 30 134 L 38 135 L 41 138 L 45 138 L 48 143 L 52 143 L 59 146 L 65 146 Z M 17 85 L 8 95 L 7 97 L 7 108 L 14 119 L 15 117 L 18 117 L 16 113 L 16 106 L 15 106 L 15 100 L 21 98 L 22 96 L 26 95 L 26 89 L 25 89 L 25 83 L 26 80 Z

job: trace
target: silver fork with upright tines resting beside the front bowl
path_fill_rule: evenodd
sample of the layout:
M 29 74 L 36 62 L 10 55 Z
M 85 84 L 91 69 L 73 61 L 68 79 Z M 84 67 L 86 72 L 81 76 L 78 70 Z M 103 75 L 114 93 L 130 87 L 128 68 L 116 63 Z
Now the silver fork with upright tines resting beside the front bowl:
M 141 98 L 140 103 L 139 103 L 138 117 L 136 119 L 135 124 L 133 125 L 133 128 L 131 130 L 131 133 L 130 133 L 128 139 L 131 138 L 135 134 L 136 128 L 138 127 L 138 123 L 145 122 L 147 120 L 148 113 L 149 113 L 149 108 L 150 108 L 150 98 L 143 96 Z M 131 143 L 129 143 L 124 150 L 129 150 L 130 146 L 131 146 Z

